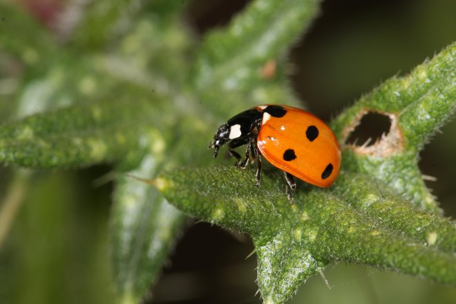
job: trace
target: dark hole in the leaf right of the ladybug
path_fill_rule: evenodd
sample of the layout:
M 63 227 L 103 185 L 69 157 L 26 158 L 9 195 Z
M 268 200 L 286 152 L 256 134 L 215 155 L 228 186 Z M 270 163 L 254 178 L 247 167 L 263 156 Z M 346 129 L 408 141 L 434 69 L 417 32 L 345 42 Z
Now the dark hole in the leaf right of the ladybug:
M 368 112 L 363 115 L 346 142 L 353 146 L 372 146 L 381 140 L 383 134 L 388 135 L 390 128 L 390 117 L 381 113 Z

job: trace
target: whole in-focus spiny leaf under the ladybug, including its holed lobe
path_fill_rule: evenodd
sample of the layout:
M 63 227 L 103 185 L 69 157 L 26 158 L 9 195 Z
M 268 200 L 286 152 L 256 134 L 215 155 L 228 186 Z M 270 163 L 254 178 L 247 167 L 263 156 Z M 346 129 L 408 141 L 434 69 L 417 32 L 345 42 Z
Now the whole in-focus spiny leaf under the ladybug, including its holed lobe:
M 253 238 L 258 254 L 258 285 L 265 303 L 283 303 L 306 278 L 334 260 L 456 285 L 455 223 L 416 206 L 437 209 L 433 201 L 423 203 L 428 197 L 419 197 L 419 193 L 427 193 L 417 167 L 417 151 L 422 144 L 413 141 L 414 133 L 401 132 L 412 124 L 414 128 L 426 125 L 432 129 L 428 131 L 431 134 L 441 126 L 438 120 L 453 111 L 455 79 L 447 64 L 455 60 L 454 48 L 448 47 L 408 77 L 388 80 L 339 116 L 334 122 L 336 134 L 345 139 L 369 109 L 390 115 L 392 126 L 371 153 L 360 153 L 363 146 L 344 146 L 345 169 L 330 191 L 299 189 L 296 204 L 290 205 L 282 191 L 285 184 L 277 175 L 263 173 L 261 187 L 256 188 L 253 172 L 233 168 L 175 169 L 162 173 L 153 184 L 191 216 L 239 229 Z M 428 70 L 429 79 L 435 79 L 433 73 L 443 73 L 446 81 L 435 80 L 424 90 L 415 84 L 423 80 L 415 77 L 423 70 Z M 395 82 L 416 86 L 419 92 L 412 88 L 407 92 L 418 99 L 408 104 L 388 103 L 390 99 L 385 96 Z M 429 102 L 421 96 L 439 86 L 450 94 L 430 93 L 437 110 L 421 113 L 424 117 L 419 120 L 401 118 L 410 108 Z M 409 137 L 415 146 L 408 144 Z M 366 167 L 372 171 L 366 172 Z M 414 173 L 417 177 L 410 178 Z M 385 176 L 390 177 L 386 183 L 382 180 Z M 408 187 L 401 187 L 406 182 Z M 404 193 L 408 195 L 405 199 Z

